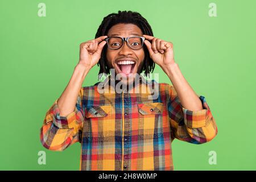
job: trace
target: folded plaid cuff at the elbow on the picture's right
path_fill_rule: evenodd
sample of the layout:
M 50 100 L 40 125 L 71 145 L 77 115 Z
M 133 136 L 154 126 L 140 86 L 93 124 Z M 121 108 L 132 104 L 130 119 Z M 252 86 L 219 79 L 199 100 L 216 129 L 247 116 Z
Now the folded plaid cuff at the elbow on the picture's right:
M 184 113 L 184 123 L 189 128 L 205 127 L 210 121 L 208 118 L 210 118 L 212 113 L 210 112 L 210 108 L 205 100 L 205 97 L 200 96 L 199 98 L 203 105 L 202 110 L 191 111 L 181 106 Z

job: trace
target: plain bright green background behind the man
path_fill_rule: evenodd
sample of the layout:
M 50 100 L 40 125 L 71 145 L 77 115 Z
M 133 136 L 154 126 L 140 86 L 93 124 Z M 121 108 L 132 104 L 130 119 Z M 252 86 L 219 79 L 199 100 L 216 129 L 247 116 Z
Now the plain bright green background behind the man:
M 38 4 L 46 3 L 46 17 Z M 209 17 L 209 3 L 217 17 Z M 255 170 L 256 1 L 0 1 L 2 170 L 79 170 L 80 143 L 49 151 L 39 140 L 46 111 L 68 84 L 79 45 L 94 39 L 104 16 L 141 13 L 154 36 L 174 43 L 175 60 L 218 126 L 211 142 L 172 143 L 175 170 Z M 83 86 L 97 81 L 98 67 Z M 159 81 L 171 84 L 163 71 Z M 38 152 L 46 151 L 46 165 Z M 217 164 L 208 163 L 209 151 Z

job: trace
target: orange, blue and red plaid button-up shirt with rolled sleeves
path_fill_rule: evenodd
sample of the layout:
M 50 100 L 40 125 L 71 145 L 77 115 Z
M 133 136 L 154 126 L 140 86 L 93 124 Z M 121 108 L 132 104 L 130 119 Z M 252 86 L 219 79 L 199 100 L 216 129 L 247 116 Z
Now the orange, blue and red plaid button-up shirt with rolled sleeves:
M 148 90 L 144 82 L 138 86 Z M 40 130 L 49 150 L 63 151 L 80 142 L 80 170 L 174 170 L 175 138 L 201 144 L 217 134 L 204 96 L 199 97 L 203 110 L 191 111 L 169 84 L 158 84 L 155 99 L 150 93 L 99 93 L 97 88 L 82 87 L 75 110 L 66 117 L 59 115 L 56 100 Z

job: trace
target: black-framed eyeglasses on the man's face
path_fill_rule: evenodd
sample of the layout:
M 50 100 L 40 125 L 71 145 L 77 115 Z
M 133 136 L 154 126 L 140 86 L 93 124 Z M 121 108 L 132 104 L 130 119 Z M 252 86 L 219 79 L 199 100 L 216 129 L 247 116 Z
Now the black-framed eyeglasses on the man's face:
M 143 36 L 132 36 L 130 38 L 121 38 L 119 36 L 110 36 L 105 39 L 108 43 L 108 48 L 112 50 L 117 50 L 123 46 L 123 43 L 126 41 L 128 47 L 131 49 L 141 49 L 145 38 Z

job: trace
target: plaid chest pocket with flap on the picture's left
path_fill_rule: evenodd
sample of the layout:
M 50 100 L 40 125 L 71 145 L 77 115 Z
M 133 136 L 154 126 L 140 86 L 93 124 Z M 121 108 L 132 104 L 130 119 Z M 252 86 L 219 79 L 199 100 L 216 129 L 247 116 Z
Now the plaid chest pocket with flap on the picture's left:
M 84 137 L 92 141 L 109 140 L 114 136 L 113 106 L 91 106 L 85 111 Z

